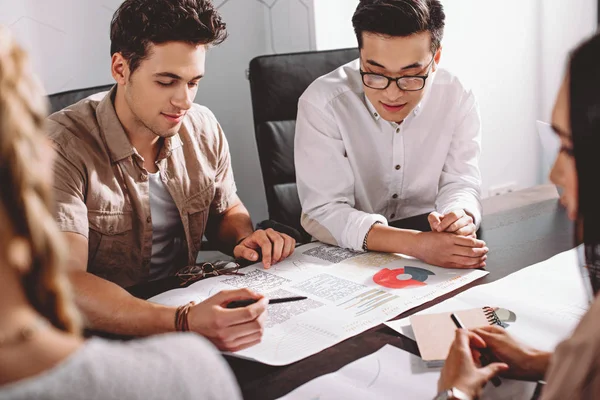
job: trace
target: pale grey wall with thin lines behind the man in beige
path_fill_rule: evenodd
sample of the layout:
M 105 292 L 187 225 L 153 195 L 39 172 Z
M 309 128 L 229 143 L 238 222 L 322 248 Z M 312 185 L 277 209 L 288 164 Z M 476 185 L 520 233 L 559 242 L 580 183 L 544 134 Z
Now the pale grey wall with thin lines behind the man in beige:
M 255 222 L 267 217 L 246 70 L 253 57 L 314 49 L 310 0 L 213 0 L 229 38 L 207 57 L 196 101 L 229 140 L 238 192 Z M 122 0 L 0 0 L 0 24 L 29 51 L 48 93 L 112 83 L 109 26 Z

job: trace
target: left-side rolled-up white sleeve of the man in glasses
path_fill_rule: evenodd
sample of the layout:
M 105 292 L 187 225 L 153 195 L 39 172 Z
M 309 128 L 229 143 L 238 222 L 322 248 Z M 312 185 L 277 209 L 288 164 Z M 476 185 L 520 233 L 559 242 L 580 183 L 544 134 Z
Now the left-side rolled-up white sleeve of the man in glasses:
M 328 110 L 300 99 L 294 143 L 302 226 L 317 240 L 362 251 L 375 222 L 385 217 L 355 209 L 354 174 Z

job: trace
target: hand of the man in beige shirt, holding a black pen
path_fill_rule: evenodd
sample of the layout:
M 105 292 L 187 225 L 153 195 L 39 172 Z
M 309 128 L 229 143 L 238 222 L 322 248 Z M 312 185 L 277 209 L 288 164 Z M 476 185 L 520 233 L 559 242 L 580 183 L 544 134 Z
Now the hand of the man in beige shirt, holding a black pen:
M 235 300 L 257 299 L 246 307 L 226 308 Z M 221 351 L 238 351 L 260 343 L 268 300 L 249 289 L 224 290 L 190 309 L 190 331 L 201 334 Z

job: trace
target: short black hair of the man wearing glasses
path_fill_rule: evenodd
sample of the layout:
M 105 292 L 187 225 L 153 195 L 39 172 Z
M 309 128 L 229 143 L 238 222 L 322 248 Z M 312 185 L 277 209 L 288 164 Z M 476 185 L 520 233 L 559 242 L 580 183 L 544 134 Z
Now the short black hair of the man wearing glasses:
M 360 0 L 352 25 L 359 48 L 363 32 L 405 37 L 429 31 L 431 49 L 436 51 L 444 36 L 445 19 L 439 0 Z

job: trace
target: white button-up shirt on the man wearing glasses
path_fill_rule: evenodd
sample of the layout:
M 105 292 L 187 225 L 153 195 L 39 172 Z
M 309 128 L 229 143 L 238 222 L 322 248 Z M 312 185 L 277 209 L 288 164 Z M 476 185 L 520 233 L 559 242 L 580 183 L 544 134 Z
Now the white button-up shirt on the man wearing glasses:
M 393 84 L 393 83 L 392 83 Z M 359 60 L 320 77 L 298 103 L 295 165 L 302 226 L 362 251 L 376 221 L 463 209 L 481 222 L 481 120 L 473 93 L 439 69 L 401 123 L 365 96 Z

